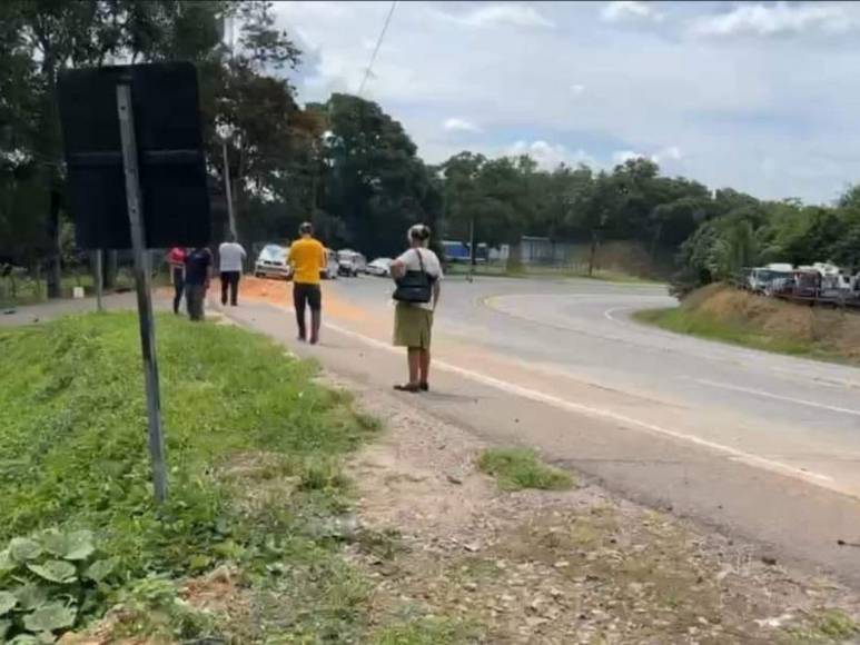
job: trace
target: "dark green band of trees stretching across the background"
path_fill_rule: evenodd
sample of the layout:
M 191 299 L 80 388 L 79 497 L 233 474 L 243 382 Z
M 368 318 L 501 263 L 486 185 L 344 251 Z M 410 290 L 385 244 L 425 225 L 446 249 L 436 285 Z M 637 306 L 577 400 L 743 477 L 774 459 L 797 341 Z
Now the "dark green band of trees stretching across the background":
M 234 21 L 235 46 L 225 26 Z M 227 39 L 233 40 L 233 39 Z M 623 239 L 678 257 L 684 284 L 759 261 L 860 265 L 860 188 L 832 206 L 763 201 L 666 177 L 649 159 L 612 169 L 464 150 L 428 166 L 374 101 L 300 105 L 302 52 L 263 0 L 8 0 L 0 3 L 0 256 L 47 258 L 59 275 L 65 169 L 58 73 L 77 66 L 189 60 L 198 69 L 212 186 L 224 149 L 246 242 L 293 237 L 313 219 L 329 246 L 393 255 L 416 222 L 490 245 L 522 236 Z M 217 231 L 221 232 L 221 231 Z

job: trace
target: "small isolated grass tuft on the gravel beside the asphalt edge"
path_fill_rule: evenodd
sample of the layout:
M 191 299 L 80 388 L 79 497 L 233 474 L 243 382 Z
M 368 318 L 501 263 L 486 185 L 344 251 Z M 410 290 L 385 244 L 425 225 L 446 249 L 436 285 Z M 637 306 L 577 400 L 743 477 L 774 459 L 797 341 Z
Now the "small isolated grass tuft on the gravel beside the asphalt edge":
M 495 477 L 503 490 L 565 490 L 574 485 L 569 473 L 547 466 L 525 448 L 487 448 L 478 456 L 477 467 Z

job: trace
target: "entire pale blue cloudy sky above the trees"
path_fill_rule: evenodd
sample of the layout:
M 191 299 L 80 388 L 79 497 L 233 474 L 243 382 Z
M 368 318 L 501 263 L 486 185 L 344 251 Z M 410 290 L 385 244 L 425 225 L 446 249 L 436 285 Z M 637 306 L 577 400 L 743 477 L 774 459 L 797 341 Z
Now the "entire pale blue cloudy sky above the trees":
M 299 100 L 356 92 L 388 2 L 277 2 Z M 860 4 L 398 2 L 365 96 L 468 149 L 831 201 L 860 181 Z

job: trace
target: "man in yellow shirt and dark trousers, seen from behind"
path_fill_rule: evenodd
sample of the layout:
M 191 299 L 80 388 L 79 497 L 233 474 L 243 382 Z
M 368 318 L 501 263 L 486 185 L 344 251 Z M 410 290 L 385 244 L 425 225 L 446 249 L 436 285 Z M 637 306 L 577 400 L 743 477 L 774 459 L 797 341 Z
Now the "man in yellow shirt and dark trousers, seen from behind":
M 307 338 L 305 307 L 310 307 L 310 345 L 319 341 L 319 324 L 323 319 L 323 292 L 319 272 L 326 266 L 326 249 L 314 239 L 314 226 L 306 221 L 298 227 L 302 236 L 289 247 L 289 265 L 293 267 L 293 306 L 296 308 L 298 339 Z

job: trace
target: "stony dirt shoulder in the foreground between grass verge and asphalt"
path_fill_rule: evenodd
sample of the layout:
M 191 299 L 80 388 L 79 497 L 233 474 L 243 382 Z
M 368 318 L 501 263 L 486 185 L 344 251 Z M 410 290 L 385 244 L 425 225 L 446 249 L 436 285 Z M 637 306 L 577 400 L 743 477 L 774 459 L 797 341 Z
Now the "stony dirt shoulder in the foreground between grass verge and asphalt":
M 388 428 L 350 465 L 363 536 L 350 557 L 375 583 L 378 642 L 828 643 L 859 634 L 858 596 L 830 579 L 589 483 L 503 493 L 475 468 L 484 445 L 467 431 L 387 393 L 339 385 Z

